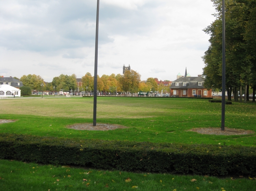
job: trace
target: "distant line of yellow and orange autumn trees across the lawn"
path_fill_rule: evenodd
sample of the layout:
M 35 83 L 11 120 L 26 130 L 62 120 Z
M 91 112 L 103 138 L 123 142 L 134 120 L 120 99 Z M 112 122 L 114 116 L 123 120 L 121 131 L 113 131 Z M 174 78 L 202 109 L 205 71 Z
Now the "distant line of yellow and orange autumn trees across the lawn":
M 31 87 L 31 89 L 41 90 L 43 84 L 43 90 L 48 91 L 76 91 L 79 88 L 80 91 L 93 91 L 94 89 L 94 76 L 91 73 L 86 73 L 82 76 L 82 85 L 76 83 L 76 75 L 59 75 L 53 78 L 52 82 L 45 83 L 43 78 L 37 75 L 24 75 L 20 78 L 23 85 Z M 131 92 L 137 93 L 139 91 L 161 91 L 169 92 L 169 87 L 163 84 L 158 85 L 154 78 L 148 78 L 146 81 L 141 81 L 141 75 L 134 70 L 125 71 L 121 74 L 111 74 L 97 76 L 97 90 L 100 92 Z

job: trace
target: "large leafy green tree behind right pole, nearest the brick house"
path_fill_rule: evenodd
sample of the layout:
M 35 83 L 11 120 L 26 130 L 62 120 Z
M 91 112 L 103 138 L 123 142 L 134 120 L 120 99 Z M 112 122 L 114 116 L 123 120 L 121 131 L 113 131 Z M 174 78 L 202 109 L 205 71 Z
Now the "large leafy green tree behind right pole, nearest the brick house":
M 216 20 L 204 29 L 210 34 L 210 47 L 203 56 L 203 76 L 207 88 L 217 89 L 222 84 L 222 2 L 211 1 L 217 13 Z M 229 100 L 232 88 L 237 100 L 239 87 L 245 87 L 250 79 L 252 62 L 247 51 L 248 42 L 244 38 L 250 15 L 248 2 L 249 0 L 226 0 L 226 89 Z

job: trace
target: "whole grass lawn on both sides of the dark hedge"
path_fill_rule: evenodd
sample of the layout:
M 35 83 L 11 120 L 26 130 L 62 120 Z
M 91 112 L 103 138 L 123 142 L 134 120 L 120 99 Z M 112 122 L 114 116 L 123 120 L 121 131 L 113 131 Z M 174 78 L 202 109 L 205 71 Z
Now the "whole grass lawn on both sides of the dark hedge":
M 0 119 L 17 120 L 13 123 L 0 124 L 0 133 L 79 139 L 256 146 L 255 133 L 217 136 L 187 131 L 193 127 L 221 126 L 221 103 L 210 103 L 208 100 L 98 97 L 97 122 L 128 127 L 113 131 L 77 131 L 66 128 L 67 125 L 75 123 L 92 123 L 93 98 L 10 98 L 0 100 L 0 105 Z M 233 102 L 232 105 L 226 105 L 227 127 L 255 131 L 255 124 L 255 103 Z M 84 174 L 88 171 L 92 172 L 88 175 Z M 248 177 L 232 180 L 230 177 L 222 179 L 128 172 L 121 172 L 120 175 L 119 171 L 62 168 L 7 160 L 0 160 L 0 177 L 0 191 L 86 189 L 127 191 L 131 190 L 132 186 L 138 186 L 137 190 L 147 191 L 175 191 L 175 189 L 193 191 L 198 190 L 197 187 L 203 191 L 221 191 L 221 188 L 226 191 L 256 190 L 256 180 L 250 180 Z M 87 181 L 83 182 L 83 178 Z M 125 182 L 127 178 L 131 178 L 132 181 Z M 197 181 L 191 182 L 193 178 Z

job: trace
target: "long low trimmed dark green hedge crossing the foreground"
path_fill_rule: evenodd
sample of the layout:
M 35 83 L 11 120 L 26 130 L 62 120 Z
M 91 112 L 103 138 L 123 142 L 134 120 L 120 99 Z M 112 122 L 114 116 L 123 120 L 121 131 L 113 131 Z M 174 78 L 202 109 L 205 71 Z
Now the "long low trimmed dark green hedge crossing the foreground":
M 256 148 L 0 134 L 0 158 L 125 171 L 256 175 Z

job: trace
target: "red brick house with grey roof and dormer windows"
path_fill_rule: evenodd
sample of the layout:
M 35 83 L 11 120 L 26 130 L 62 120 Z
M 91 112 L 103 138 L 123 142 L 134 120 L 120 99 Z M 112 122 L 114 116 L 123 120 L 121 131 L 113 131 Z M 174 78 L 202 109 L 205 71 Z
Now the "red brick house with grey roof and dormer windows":
M 170 92 L 170 96 L 211 97 L 211 89 L 204 88 L 204 78 L 201 75 L 197 77 L 179 76 L 177 80 L 172 82 Z

